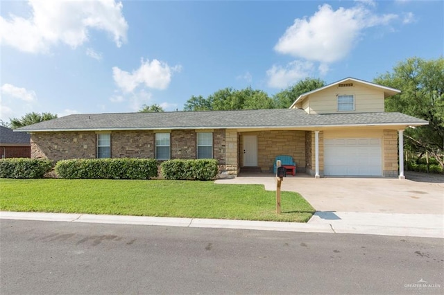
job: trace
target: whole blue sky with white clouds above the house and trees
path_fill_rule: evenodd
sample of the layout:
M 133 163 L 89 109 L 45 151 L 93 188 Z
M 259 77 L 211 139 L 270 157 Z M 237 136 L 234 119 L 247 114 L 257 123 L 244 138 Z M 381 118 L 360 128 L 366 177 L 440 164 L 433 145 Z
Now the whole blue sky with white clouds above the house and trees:
M 443 1 L 3 1 L 0 119 L 181 110 L 444 53 Z

